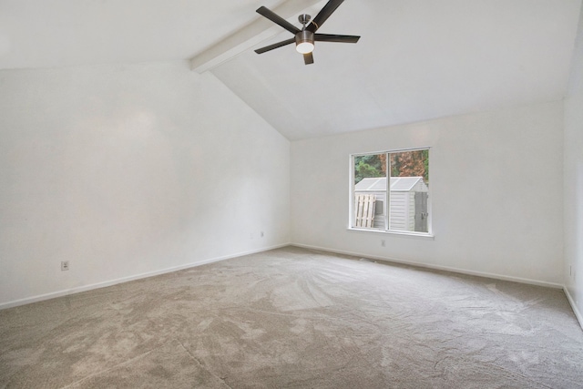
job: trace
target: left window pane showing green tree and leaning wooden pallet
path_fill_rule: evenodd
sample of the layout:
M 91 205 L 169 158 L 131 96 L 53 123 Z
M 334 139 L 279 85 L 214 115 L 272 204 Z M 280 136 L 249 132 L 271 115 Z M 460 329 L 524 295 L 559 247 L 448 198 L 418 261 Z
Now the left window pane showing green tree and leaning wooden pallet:
M 354 156 L 353 227 L 385 229 L 386 154 Z

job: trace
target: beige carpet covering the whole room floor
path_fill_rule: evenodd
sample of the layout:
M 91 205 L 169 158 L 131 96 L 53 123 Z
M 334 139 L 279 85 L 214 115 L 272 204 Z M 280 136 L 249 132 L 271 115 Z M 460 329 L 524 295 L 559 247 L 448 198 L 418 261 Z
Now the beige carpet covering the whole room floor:
M 0 387 L 581 388 L 562 291 L 285 248 L 0 311 Z

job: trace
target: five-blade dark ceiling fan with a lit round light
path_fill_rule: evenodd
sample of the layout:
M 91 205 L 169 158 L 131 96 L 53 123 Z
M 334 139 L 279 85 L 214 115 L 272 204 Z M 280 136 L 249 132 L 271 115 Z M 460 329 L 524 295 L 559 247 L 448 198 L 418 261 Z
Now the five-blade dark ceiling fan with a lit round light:
M 263 15 L 271 20 L 271 22 L 282 26 L 289 32 L 291 32 L 294 37 L 286 39 L 284 41 L 275 43 L 270 46 L 265 46 L 255 50 L 257 54 L 263 54 L 267 51 L 273 50 L 281 46 L 291 45 L 295 42 L 295 49 L 303 55 L 303 62 L 306 65 L 313 64 L 312 51 L 314 48 L 314 43 L 318 42 L 340 42 L 340 43 L 356 43 L 360 36 L 339 36 L 330 34 L 316 34 L 318 28 L 320 28 L 323 23 L 332 15 L 332 13 L 343 4 L 344 0 L 330 0 L 326 5 L 323 6 L 322 10 L 312 19 L 310 15 L 300 15 L 298 19 L 302 23 L 302 29 L 293 26 L 290 22 L 282 18 L 280 15 L 275 14 L 268 8 L 261 6 L 257 9 L 257 13 Z

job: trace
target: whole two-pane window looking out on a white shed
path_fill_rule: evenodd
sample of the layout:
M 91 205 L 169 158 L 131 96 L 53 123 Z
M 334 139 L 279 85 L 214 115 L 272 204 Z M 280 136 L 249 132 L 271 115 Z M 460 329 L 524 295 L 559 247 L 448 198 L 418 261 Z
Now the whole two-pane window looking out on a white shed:
M 428 235 L 429 148 L 351 156 L 351 228 Z

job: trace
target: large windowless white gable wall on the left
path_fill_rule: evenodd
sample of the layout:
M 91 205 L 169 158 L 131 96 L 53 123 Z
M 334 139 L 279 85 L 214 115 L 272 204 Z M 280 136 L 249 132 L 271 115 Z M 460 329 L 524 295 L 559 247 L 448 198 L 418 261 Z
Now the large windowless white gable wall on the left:
M 186 61 L 0 71 L 0 308 L 287 243 L 289 153 Z

